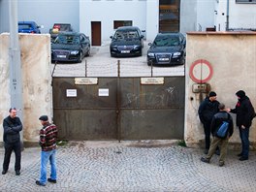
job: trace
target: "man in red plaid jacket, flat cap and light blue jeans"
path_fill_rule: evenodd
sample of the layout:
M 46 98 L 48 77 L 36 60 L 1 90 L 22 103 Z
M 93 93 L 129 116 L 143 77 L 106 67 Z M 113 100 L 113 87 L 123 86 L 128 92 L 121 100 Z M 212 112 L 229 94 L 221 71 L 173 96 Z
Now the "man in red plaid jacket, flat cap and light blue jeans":
M 41 145 L 41 176 L 40 180 L 36 180 L 36 184 L 46 186 L 47 180 L 51 183 L 57 182 L 56 172 L 56 140 L 57 140 L 57 127 L 48 122 L 48 116 L 42 115 L 39 117 L 43 128 L 40 130 Z M 47 179 L 47 166 L 48 161 L 50 164 L 50 177 Z

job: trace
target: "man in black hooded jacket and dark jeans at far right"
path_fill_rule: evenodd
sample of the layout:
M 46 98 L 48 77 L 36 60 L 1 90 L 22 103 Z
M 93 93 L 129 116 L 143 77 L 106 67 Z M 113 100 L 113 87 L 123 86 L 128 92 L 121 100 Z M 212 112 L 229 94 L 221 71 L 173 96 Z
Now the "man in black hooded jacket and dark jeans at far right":
M 233 112 L 237 114 L 237 126 L 240 130 L 241 152 L 240 161 L 248 160 L 249 157 L 249 128 L 251 121 L 255 116 L 254 108 L 251 105 L 250 99 L 246 96 L 243 90 L 236 93 L 238 97 L 238 103 L 235 109 L 228 109 L 227 112 Z

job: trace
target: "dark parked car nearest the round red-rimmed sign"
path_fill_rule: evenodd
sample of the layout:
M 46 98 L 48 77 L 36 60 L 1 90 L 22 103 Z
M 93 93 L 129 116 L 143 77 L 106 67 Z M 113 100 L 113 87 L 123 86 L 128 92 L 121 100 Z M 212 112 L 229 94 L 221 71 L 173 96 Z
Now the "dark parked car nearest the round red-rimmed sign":
M 186 39 L 182 33 L 159 33 L 147 50 L 147 65 L 182 65 L 185 63 Z

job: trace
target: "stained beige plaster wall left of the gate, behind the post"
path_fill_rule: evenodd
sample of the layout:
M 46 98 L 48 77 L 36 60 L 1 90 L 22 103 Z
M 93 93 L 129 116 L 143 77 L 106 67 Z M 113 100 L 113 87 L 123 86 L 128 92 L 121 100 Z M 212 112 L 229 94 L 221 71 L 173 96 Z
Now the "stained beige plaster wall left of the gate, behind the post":
M 23 142 L 38 142 L 42 114 L 52 117 L 50 75 L 50 37 L 48 34 L 19 34 L 22 68 Z M 3 119 L 11 108 L 9 34 L 0 34 L 0 142 L 3 142 Z M 15 107 L 15 106 L 12 106 Z

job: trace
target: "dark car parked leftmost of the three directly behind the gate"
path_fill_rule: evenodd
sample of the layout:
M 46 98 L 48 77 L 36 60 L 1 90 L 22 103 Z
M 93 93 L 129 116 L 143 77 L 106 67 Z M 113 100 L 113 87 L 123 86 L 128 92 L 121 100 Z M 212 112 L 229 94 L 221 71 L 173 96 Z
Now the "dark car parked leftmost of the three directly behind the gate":
M 90 54 L 89 37 L 83 33 L 61 32 L 51 43 L 51 61 L 81 62 L 84 56 Z

